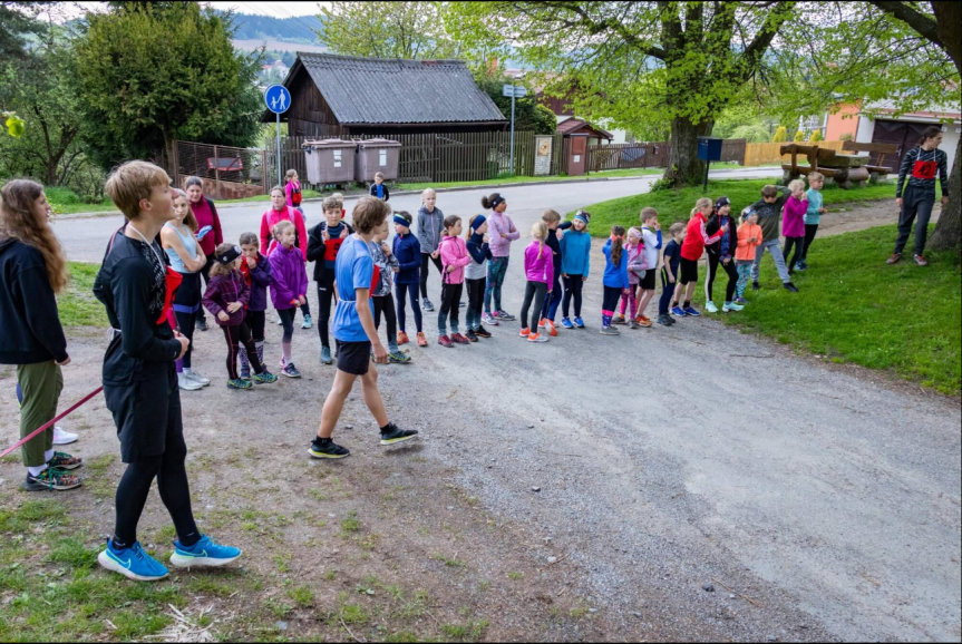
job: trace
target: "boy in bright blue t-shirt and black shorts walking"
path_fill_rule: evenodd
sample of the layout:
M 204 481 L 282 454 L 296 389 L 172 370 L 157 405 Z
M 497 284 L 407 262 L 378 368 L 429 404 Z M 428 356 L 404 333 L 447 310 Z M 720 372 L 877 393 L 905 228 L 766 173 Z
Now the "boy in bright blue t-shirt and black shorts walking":
M 347 237 L 338 252 L 334 265 L 338 308 L 331 323 L 331 332 L 338 343 L 338 372 L 324 400 L 321 427 L 309 450 L 314 458 L 350 456 L 350 451 L 331 440 L 331 435 L 358 377 L 361 378 L 368 409 L 381 429 L 381 445 L 395 445 L 418 433 L 388 420 L 378 391 L 378 371 L 371 364 L 372 353 L 375 362 L 383 364 L 388 361 L 388 352 L 378 338 L 371 314 L 371 289 L 378 284 L 380 275 L 368 244 L 389 214 L 388 205 L 377 197 L 358 199 L 351 216 L 357 233 Z

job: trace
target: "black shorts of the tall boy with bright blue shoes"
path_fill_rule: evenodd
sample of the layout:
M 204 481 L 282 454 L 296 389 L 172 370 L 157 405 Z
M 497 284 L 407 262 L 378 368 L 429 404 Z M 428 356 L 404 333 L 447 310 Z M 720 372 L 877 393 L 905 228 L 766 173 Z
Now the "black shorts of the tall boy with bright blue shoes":
M 130 384 L 105 384 L 104 399 L 117 426 L 122 461 L 129 464 L 168 450 L 186 453 L 181 390 L 173 362 L 165 377 Z

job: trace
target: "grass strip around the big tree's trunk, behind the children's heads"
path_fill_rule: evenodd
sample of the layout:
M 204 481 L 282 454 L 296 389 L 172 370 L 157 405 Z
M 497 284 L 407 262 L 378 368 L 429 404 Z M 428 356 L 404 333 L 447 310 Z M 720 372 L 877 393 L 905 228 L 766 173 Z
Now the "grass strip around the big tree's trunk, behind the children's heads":
M 635 226 L 639 224 L 641 208 L 651 206 L 658 211 L 659 223 L 662 230 L 668 230 L 674 222 L 687 222 L 694 203 L 702 196 L 711 198 L 727 196 L 731 199 L 731 211 L 741 212 L 761 198 L 760 191 L 771 179 L 727 179 L 709 180 L 708 193 L 701 192 L 701 186 L 681 188 L 676 191 L 660 191 L 657 193 L 643 193 L 630 197 L 621 197 L 608 202 L 601 202 L 584 206 L 591 213 L 591 234 L 596 237 L 606 237 L 611 227 Z M 867 185 L 863 188 L 844 191 L 837 186 L 826 186 L 823 191 L 825 207 L 830 209 L 832 204 L 846 202 L 868 202 L 876 199 L 892 199 L 895 207 L 895 186 L 891 183 Z M 569 213 L 574 216 L 574 213 Z

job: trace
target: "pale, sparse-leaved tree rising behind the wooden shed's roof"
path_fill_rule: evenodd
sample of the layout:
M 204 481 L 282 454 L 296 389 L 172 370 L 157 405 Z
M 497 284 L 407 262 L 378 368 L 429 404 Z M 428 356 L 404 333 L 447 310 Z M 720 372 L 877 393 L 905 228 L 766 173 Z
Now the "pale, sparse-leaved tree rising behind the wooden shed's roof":
M 373 58 L 460 58 L 441 21 L 443 2 L 325 2 L 317 31 L 334 53 Z

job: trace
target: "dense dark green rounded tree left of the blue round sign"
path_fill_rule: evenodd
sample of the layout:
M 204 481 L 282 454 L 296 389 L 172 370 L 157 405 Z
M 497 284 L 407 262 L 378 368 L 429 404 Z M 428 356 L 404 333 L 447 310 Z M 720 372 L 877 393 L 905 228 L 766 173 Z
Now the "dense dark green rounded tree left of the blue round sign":
M 197 2 L 161 4 L 87 13 L 77 40 L 84 139 L 104 167 L 171 158 L 177 138 L 246 146 L 261 130 L 254 79 L 263 51 L 234 51 L 230 16 Z

